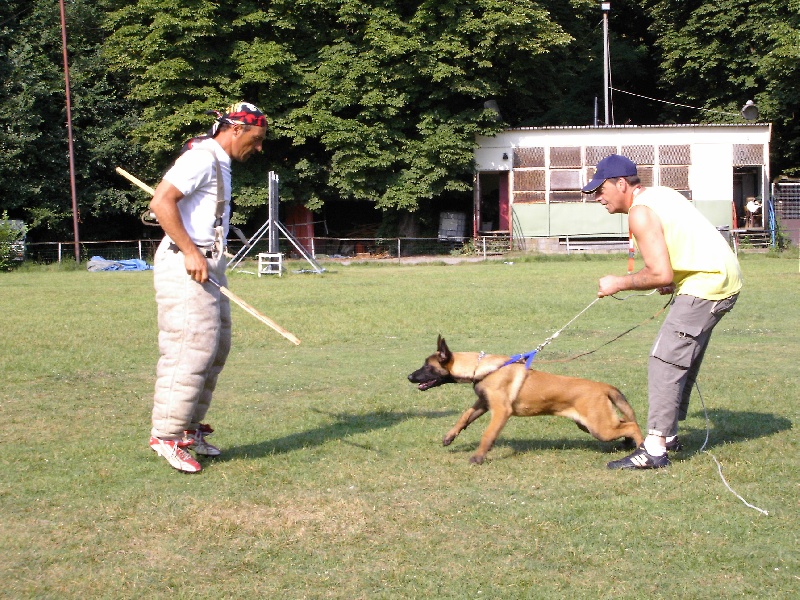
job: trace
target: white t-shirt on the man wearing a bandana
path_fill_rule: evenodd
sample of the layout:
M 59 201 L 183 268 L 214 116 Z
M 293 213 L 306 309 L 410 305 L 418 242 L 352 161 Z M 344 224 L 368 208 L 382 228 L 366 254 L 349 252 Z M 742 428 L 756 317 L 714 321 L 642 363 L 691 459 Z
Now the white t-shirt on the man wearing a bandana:
M 164 175 L 169 183 L 183 194 L 178 202 L 183 226 L 192 241 L 207 247 L 214 243 L 214 222 L 217 214 L 217 173 L 214 157 L 219 160 L 225 187 L 225 210 L 222 227 L 225 238 L 231 216 L 231 158 L 216 140 L 202 140 L 178 157 L 175 164 Z

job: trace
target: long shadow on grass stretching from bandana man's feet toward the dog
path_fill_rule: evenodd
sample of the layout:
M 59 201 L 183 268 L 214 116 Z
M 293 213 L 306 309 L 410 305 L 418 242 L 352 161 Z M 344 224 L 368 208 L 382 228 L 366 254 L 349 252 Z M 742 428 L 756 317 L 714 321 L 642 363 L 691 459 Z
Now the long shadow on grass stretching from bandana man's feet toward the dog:
M 216 462 L 242 456 L 259 457 L 271 454 L 284 454 L 321 446 L 331 440 L 341 440 L 351 435 L 365 433 L 376 429 L 394 427 L 409 419 L 438 419 L 457 414 L 456 411 L 427 411 L 427 412 L 390 412 L 377 411 L 363 414 L 329 413 L 312 409 L 312 412 L 326 415 L 333 419 L 332 423 L 306 431 L 299 431 L 282 438 L 267 439 L 257 444 L 232 446 L 226 448 L 225 454 L 215 458 Z

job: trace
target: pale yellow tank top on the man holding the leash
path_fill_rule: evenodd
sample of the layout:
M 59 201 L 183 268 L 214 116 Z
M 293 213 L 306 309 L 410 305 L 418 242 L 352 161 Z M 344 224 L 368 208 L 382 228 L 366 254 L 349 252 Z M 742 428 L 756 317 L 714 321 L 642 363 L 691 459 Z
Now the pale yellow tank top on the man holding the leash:
M 722 300 L 742 289 L 739 261 L 717 228 L 682 194 L 649 187 L 631 208 L 647 206 L 664 228 L 676 294 Z

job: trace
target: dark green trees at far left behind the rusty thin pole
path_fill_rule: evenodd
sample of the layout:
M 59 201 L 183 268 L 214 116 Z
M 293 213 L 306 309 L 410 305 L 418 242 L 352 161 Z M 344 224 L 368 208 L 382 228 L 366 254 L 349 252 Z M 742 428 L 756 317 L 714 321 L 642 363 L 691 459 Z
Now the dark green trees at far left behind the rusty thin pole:
M 119 189 L 113 167 L 133 163 L 128 139 L 135 115 L 119 97 L 120 82 L 99 54 L 102 2 L 66 5 L 76 189 L 82 223 L 97 223 L 94 239 L 130 231 L 141 200 Z M 78 26 L 80 25 L 80 26 Z M 57 2 L 9 1 L 0 7 L 0 196 L 37 239 L 72 234 L 66 90 Z M 137 234 L 141 227 L 137 228 Z

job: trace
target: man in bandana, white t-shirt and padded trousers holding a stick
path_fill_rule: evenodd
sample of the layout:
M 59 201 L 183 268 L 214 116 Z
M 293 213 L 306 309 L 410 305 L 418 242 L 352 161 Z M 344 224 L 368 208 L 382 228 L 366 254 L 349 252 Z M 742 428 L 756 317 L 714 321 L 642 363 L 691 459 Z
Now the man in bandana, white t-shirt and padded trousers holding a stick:
M 267 119 L 240 102 L 217 113 L 207 135 L 190 140 L 156 187 L 150 210 L 164 229 L 156 251 L 154 285 L 158 345 L 150 447 L 169 464 L 197 473 L 189 454 L 218 456 L 203 423 L 231 345 L 224 256 L 230 221 L 231 159 L 261 152 Z

